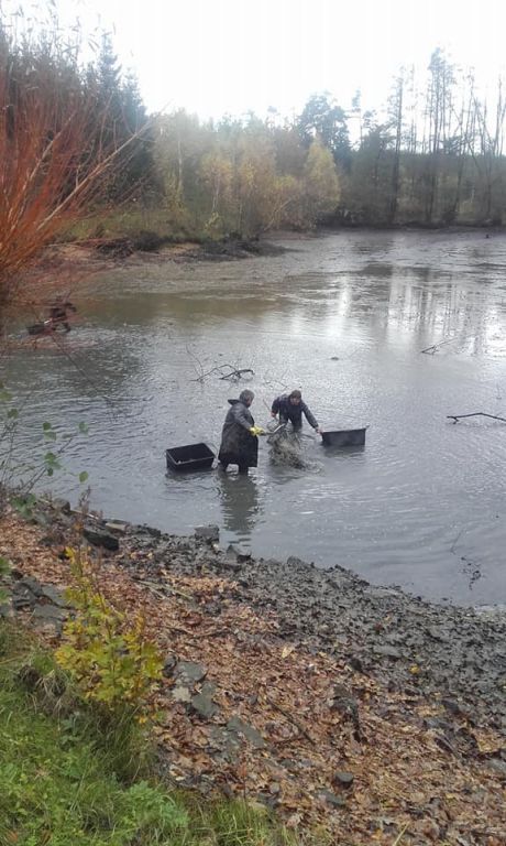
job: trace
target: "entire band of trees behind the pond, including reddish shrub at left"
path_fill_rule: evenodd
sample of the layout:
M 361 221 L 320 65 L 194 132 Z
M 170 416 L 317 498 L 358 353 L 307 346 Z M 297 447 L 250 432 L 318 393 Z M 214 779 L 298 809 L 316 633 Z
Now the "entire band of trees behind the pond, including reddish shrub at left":
M 148 116 L 103 34 L 0 21 L 0 300 L 6 278 L 90 208 L 157 209 L 164 235 L 254 237 L 318 225 L 501 225 L 506 99 L 437 50 L 403 68 L 383 113 L 311 96 L 292 120 Z M 3 280 L 3 282 L 2 282 Z

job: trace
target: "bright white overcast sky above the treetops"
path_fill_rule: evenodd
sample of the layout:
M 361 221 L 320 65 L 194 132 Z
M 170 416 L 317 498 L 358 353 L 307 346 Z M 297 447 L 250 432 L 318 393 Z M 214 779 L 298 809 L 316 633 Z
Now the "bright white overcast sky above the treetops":
M 40 3 L 44 6 L 44 0 Z M 396 69 L 444 47 L 483 87 L 505 72 L 506 0 L 59 0 L 113 32 L 148 110 L 204 118 L 300 110 L 314 93 L 380 108 Z M 26 7 L 24 7 L 26 9 Z

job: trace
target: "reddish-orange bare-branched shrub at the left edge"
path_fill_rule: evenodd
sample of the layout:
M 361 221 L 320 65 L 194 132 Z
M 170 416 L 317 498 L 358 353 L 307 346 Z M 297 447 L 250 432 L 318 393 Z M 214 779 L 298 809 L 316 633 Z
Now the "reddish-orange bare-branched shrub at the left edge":
M 131 140 L 100 133 L 105 115 L 68 56 L 57 33 L 14 43 L 0 21 L 0 329 L 21 271 L 105 195 Z

